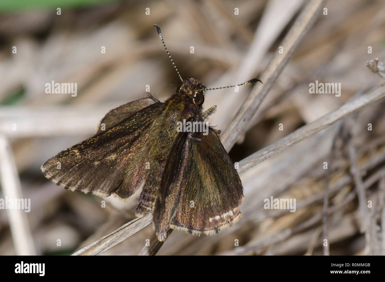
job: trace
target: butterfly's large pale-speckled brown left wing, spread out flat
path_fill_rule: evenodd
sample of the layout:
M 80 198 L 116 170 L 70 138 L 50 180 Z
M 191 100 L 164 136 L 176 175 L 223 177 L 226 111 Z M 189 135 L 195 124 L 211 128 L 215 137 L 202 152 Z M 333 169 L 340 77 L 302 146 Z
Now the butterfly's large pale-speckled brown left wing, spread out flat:
M 146 144 L 163 109 L 161 102 L 151 104 L 112 127 L 109 118 L 109 129 L 46 161 L 43 175 L 72 191 L 130 198 L 143 181 Z

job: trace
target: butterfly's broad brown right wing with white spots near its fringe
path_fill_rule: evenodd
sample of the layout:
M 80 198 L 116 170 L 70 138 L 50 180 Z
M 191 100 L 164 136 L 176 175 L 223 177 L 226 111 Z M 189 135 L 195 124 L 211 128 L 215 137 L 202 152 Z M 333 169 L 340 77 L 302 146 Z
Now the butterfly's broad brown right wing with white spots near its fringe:
M 234 165 L 212 128 L 191 139 L 188 174 L 170 227 L 192 234 L 211 235 L 241 218 L 238 206 L 243 188 Z

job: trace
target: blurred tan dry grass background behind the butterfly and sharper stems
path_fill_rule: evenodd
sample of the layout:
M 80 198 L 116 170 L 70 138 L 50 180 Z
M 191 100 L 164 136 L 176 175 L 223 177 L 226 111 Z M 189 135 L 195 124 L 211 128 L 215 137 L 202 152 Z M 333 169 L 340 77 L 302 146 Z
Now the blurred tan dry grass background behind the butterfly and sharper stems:
M 31 198 L 27 218 L 33 248 L 40 255 L 64 255 L 134 219 L 139 193 L 126 203 L 109 197 L 101 208 L 102 198 L 55 186 L 41 175 L 40 166 L 94 134 L 109 109 L 144 96 L 146 85 L 163 101 L 172 94 L 179 78 L 152 25 L 162 28 L 182 77 L 208 87 L 227 86 L 263 72 L 307 1 L 25 2 L 30 7 L 8 0 L 0 4 L 0 135 L 12 144 L 23 198 Z M 62 7 L 61 15 L 57 7 Z M 150 15 L 145 15 L 147 7 Z M 239 15 L 234 15 L 235 7 Z M 328 15 L 320 12 L 230 151 L 234 162 L 384 82 L 366 61 L 385 60 L 385 2 L 328 1 L 325 7 Z M 12 54 L 13 46 L 17 54 Z M 52 80 L 77 82 L 77 97 L 46 94 L 45 83 Z M 341 83 L 341 96 L 309 94 L 309 83 L 316 80 Z M 209 91 L 204 108 L 218 106 L 211 124 L 226 128 L 251 89 Z M 242 173 L 243 218 L 234 227 L 201 237 L 174 231 L 158 254 L 320 255 L 327 178 L 330 254 L 383 253 L 384 108 L 385 101 L 365 107 Z M 12 131 L 13 123 L 17 131 Z M 365 196 L 373 203 L 367 217 L 357 198 L 348 144 L 357 155 Z M 323 169 L 325 161 L 328 170 Z M 296 198 L 296 212 L 265 210 L 264 199 L 270 196 Z M 103 254 L 137 255 L 152 232 L 148 225 Z M 235 239 L 240 247 L 234 247 Z M 0 210 L 0 254 L 15 254 L 16 244 L 7 213 Z

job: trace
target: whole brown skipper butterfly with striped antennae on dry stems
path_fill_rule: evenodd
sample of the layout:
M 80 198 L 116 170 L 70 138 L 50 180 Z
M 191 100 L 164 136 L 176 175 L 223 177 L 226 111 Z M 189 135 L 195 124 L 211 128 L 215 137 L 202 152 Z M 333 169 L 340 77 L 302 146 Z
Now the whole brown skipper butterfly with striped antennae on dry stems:
M 142 188 L 136 216 L 153 213 L 160 241 L 169 228 L 211 235 L 242 216 L 241 180 L 219 140 L 220 131 L 188 126 L 178 130 L 177 125 L 206 124 L 216 109 L 202 111 L 207 90 L 260 81 L 208 89 L 196 79 L 183 80 L 176 71 L 182 84 L 165 102 L 149 96 L 109 111 L 94 136 L 61 151 L 41 168 L 49 180 L 72 191 L 127 200 Z

